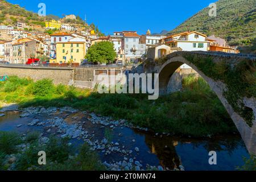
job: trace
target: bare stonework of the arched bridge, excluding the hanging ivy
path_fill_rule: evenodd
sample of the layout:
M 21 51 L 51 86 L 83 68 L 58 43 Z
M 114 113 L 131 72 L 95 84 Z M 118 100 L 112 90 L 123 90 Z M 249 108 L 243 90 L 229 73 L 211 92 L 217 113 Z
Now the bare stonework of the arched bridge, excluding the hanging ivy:
M 243 97 L 243 104 L 246 107 L 251 108 L 254 113 L 254 119 L 253 119 L 253 125 L 250 127 L 247 125 L 245 119 L 241 117 L 240 114 L 238 114 L 236 111 L 234 111 L 232 105 L 229 104 L 228 100 L 226 100 L 224 96 L 224 90 L 226 89 L 226 85 L 224 82 L 220 80 L 214 80 L 213 78 L 210 78 L 206 76 L 200 69 L 196 67 L 193 63 L 188 61 L 185 57 L 188 55 L 197 55 L 200 57 L 207 57 L 211 56 L 214 63 L 222 60 L 229 60 L 229 61 L 236 61 L 238 63 L 239 61 L 248 59 L 255 61 L 255 57 L 241 57 L 238 55 L 230 55 L 230 54 L 224 54 L 219 55 L 216 53 L 204 53 L 204 52 L 174 52 L 170 55 L 167 55 L 162 61 L 155 61 L 152 59 L 148 59 L 144 63 L 144 72 L 146 73 L 159 73 L 159 93 L 160 94 L 166 94 L 170 88 L 168 88 L 170 78 L 176 70 L 183 64 L 189 65 L 191 68 L 193 68 L 201 77 L 204 78 L 205 81 L 208 82 L 210 88 L 215 92 L 228 111 L 230 117 L 232 118 L 233 122 L 235 123 L 238 131 L 241 134 L 241 137 L 243 141 L 245 142 L 245 145 L 247 147 L 247 150 L 250 152 L 250 154 L 256 155 L 256 98 L 251 97 Z

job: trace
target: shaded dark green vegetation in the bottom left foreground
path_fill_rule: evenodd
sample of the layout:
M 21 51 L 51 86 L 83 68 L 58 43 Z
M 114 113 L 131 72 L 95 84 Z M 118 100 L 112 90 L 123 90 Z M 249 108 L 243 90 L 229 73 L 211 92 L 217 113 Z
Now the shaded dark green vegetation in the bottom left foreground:
M 32 136 L 32 137 L 31 137 Z M 10 132 L 1 132 L 0 134 L 0 169 L 7 170 L 10 167 L 8 162 L 5 162 L 7 154 L 14 154 L 17 158 L 14 170 L 104 170 L 105 167 L 101 164 L 99 156 L 96 152 L 91 151 L 85 143 L 80 147 L 78 155 L 74 154 L 73 146 L 68 144 L 68 139 L 59 139 L 51 136 L 49 142 L 44 145 L 39 143 L 39 137 L 35 133 L 27 135 L 22 141 L 20 135 Z M 28 139 L 29 138 L 29 139 Z M 31 140 L 33 139 L 33 140 Z M 15 142 L 19 141 L 19 142 Z M 4 141 L 4 142 L 3 142 Z M 33 141 L 33 142 L 31 142 Z M 20 151 L 17 145 L 20 142 L 30 142 L 24 151 Z M 38 152 L 46 152 L 46 166 L 38 164 Z M 72 156 L 72 158 L 70 157 Z

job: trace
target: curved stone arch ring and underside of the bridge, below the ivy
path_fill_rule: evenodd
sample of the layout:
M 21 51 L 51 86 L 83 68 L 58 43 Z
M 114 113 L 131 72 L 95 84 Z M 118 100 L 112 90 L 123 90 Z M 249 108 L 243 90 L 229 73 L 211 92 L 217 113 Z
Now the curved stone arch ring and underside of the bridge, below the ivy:
M 247 150 L 250 154 L 256 155 L 256 121 L 254 118 L 254 124 L 252 127 L 248 126 L 245 119 L 243 119 L 236 111 L 234 111 L 233 107 L 228 103 L 226 98 L 224 97 L 224 88 L 225 84 L 221 81 L 215 81 L 212 78 L 206 76 L 203 72 L 201 72 L 194 64 L 185 59 L 183 56 L 171 57 L 165 63 L 163 63 L 157 70 L 159 73 L 159 93 L 167 94 L 168 83 L 170 81 L 171 76 L 175 73 L 175 71 L 183 64 L 189 65 L 189 67 L 193 68 L 201 77 L 204 78 L 205 81 L 208 82 L 210 88 L 214 93 L 218 96 L 222 105 L 224 105 L 225 109 L 228 111 L 230 118 L 232 118 L 234 124 L 236 125 L 239 133 L 243 141 L 245 142 Z M 253 98 L 255 101 L 255 98 Z M 255 108 L 251 108 L 254 110 Z

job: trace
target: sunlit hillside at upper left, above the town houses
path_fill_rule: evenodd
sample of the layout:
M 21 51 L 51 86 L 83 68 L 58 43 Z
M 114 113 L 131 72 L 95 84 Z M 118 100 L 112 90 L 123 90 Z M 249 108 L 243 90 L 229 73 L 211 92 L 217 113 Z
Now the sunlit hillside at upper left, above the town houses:
M 5 0 L 0 0 L 0 24 L 13 25 L 13 23 L 15 23 L 17 20 L 20 20 L 28 24 L 37 24 L 42 27 L 39 29 L 44 30 L 45 21 L 52 19 L 59 18 L 55 15 L 47 15 L 46 17 L 41 17 L 36 13 L 27 11 L 19 5 L 13 5 Z M 88 26 L 81 18 L 79 18 L 79 16 L 76 20 L 62 19 L 62 21 L 64 23 L 71 23 L 77 26 Z

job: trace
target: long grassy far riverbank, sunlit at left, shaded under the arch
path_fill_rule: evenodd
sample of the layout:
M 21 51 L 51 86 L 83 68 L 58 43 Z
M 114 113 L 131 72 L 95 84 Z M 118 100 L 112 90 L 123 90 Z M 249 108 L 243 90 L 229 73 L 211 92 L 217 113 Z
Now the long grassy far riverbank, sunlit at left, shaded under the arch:
M 9 82 L 12 83 L 11 79 Z M 55 86 L 50 80 L 33 82 L 26 78 L 19 79 L 29 84 L 13 82 L 16 90 L 6 93 L 3 88 L 8 81 L 2 82 L 0 100 L 15 102 L 22 107 L 71 106 L 127 119 L 135 126 L 175 135 L 204 137 L 237 132 L 224 106 L 202 78 L 187 77 L 183 80 L 182 92 L 160 97 L 156 101 L 148 100 L 146 94 L 99 94 L 73 86 Z M 27 94 L 26 90 L 31 85 L 37 85 L 37 89 Z

